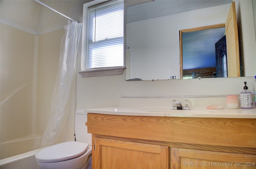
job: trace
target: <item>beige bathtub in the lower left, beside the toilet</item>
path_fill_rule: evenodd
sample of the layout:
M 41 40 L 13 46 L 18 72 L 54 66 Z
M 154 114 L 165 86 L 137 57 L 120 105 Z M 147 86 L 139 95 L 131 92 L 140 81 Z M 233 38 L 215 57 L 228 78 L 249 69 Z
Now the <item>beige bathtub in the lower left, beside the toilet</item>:
M 35 155 L 41 149 L 41 136 L 28 136 L 0 144 L 0 169 L 39 169 Z

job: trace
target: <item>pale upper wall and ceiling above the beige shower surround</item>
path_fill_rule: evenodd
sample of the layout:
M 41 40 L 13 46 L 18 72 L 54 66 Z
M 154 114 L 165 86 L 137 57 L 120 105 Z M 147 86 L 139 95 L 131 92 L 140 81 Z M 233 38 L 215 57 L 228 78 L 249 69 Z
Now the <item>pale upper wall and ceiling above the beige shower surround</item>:
M 40 0 L 82 22 L 83 4 L 91 0 Z M 68 20 L 34 0 L 0 0 L 0 22 L 36 35 L 62 29 Z

